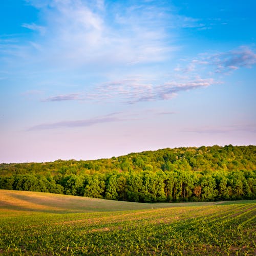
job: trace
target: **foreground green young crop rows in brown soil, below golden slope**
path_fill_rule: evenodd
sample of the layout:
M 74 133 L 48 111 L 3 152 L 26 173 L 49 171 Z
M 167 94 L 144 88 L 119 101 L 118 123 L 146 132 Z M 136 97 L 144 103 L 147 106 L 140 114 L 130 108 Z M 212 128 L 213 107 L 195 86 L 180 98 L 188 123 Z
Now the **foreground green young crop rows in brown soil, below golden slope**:
M 255 255 L 256 204 L 0 220 L 3 255 Z

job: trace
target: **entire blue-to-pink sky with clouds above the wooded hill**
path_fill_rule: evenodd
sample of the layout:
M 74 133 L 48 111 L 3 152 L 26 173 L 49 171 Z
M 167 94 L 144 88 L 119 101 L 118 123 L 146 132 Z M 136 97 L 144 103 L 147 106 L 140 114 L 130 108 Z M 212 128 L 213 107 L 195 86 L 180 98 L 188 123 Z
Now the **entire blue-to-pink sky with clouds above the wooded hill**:
M 1 0 L 0 163 L 255 145 L 255 9 Z

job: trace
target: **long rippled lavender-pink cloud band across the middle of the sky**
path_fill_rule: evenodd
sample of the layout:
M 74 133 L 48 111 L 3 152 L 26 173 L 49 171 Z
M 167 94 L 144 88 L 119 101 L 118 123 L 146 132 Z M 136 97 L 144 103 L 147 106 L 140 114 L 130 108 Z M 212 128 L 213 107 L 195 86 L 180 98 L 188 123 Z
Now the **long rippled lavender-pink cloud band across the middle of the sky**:
M 48 97 L 41 101 L 93 101 L 93 102 L 112 102 L 117 101 L 125 104 L 135 104 L 138 102 L 169 100 L 177 96 L 181 91 L 189 91 L 205 88 L 213 84 L 219 84 L 213 78 L 200 78 L 184 81 L 170 81 L 155 85 L 153 82 L 140 78 L 130 78 L 116 80 L 98 84 L 95 90 L 84 91 L 83 93 L 70 93 Z

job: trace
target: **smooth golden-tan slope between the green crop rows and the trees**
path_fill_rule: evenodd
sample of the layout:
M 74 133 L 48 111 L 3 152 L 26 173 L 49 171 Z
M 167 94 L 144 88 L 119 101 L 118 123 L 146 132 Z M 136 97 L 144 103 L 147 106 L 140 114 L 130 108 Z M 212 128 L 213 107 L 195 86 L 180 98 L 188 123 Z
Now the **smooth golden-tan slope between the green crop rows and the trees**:
M 0 189 L 0 216 L 8 210 L 15 210 L 22 215 L 28 213 L 48 212 L 54 214 L 106 212 L 124 210 L 159 209 L 184 206 L 207 206 L 227 204 L 227 202 L 200 202 L 200 203 L 136 203 L 98 198 L 58 195 L 51 193 L 2 190 Z M 256 200 L 230 201 L 228 203 L 256 203 Z

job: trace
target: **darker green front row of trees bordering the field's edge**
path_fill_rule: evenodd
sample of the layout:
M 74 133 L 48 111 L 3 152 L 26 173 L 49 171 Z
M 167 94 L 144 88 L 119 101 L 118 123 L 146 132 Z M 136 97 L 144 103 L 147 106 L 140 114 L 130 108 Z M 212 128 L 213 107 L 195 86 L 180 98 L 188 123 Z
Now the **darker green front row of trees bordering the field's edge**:
M 255 199 L 255 171 L 113 172 L 45 177 L 0 177 L 1 189 L 41 191 L 133 202 L 188 202 Z

